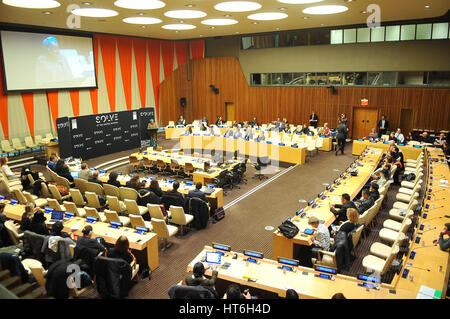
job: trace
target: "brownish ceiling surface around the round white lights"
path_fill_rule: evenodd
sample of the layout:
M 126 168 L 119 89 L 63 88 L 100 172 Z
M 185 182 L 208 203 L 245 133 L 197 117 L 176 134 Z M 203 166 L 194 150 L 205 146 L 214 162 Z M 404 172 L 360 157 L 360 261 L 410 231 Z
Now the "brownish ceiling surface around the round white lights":
M 84 5 L 84 1 L 58 1 L 61 3 L 61 6 L 54 9 L 24 9 L 8 6 L 0 2 L 0 22 L 69 29 L 66 25 L 66 20 L 69 17 L 69 13 L 66 11 L 67 6 L 78 4 L 81 8 L 113 9 L 119 15 L 110 18 L 81 17 L 81 28 L 76 30 L 175 40 L 365 24 L 370 13 L 361 12 L 374 2 L 378 3 L 381 8 L 382 22 L 439 17 L 446 14 L 450 8 L 448 0 L 353 0 L 351 2 L 345 0 L 324 0 L 313 4 L 285 4 L 276 0 L 251 0 L 260 3 L 262 8 L 251 12 L 227 13 L 215 10 L 214 5 L 228 0 L 162 0 L 166 6 L 154 10 L 119 8 L 114 5 L 113 0 L 87 0 L 92 3 L 90 6 Z M 349 10 L 331 15 L 305 15 L 302 13 L 303 9 L 310 6 L 331 4 L 345 5 Z M 187 5 L 193 5 L 193 7 L 187 7 Z M 430 7 L 425 8 L 426 5 Z M 285 8 L 285 10 L 280 8 Z M 204 18 L 183 19 L 184 23 L 193 24 L 197 27 L 193 30 L 176 32 L 161 28 L 162 25 L 179 23 L 180 21 L 180 19 L 164 16 L 166 11 L 181 9 L 201 10 L 207 13 L 207 16 Z M 52 14 L 44 14 L 44 11 L 50 11 Z M 248 19 L 247 16 L 259 12 L 284 12 L 288 14 L 288 17 L 275 21 L 258 21 L 257 24 L 253 24 L 254 21 Z M 162 22 L 147 25 L 143 28 L 141 25 L 128 24 L 122 21 L 126 17 L 138 16 L 138 13 L 144 13 L 144 17 L 159 18 Z M 216 26 L 214 29 L 200 23 L 204 19 L 225 18 L 226 14 L 231 15 L 229 18 L 238 20 L 239 23 L 230 26 Z M 309 18 L 304 19 L 305 16 Z

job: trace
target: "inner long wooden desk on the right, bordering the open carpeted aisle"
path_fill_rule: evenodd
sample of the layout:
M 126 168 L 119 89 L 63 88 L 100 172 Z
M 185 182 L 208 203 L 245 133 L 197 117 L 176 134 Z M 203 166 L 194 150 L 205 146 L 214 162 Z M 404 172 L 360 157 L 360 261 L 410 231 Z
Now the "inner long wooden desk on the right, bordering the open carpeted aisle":
M 299 228 L 298 234 L 289 239 L 276 230 L 273 233 L 273 259 L 277 257 L 293 258 L 294 245 L 311 246 L 311 236 L 303 234 L 303 230 L 309 228 L 308 217 L 316 216 L 322 220 L 328 227 L 336 219 L 334 214 L 330 211 L 329 204 L 340 204 L 341 195 L 348 193 L 350 198 L 354 198 L 361 188 L 369 180 L 372 173 L 375 171 L 378 162 L 381 159 L 382 152 L 377 148 L 367 149 L 367 153 L 361 161 L 362 166 L 357 166 L 358 176 L 352 176 L 348 172 L 344 173 L 342 177 L 333 183 L 333 186 L 327 191 L 325 190 L 321 198 L 316 198 L 314 203 L 304 208 L 304 210 L 294 217 L 291 221 Z M 355 167 L 355 163 L 351 167 Z M 325 198 L 324 198 L 325 197 Z M 323 199 L 324 198 L 324 199 Z

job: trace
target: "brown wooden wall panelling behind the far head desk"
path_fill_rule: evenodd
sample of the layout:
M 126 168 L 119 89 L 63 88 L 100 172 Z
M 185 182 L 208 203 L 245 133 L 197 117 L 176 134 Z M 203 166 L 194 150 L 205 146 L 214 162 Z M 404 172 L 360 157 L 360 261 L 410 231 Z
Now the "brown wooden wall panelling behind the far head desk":
M 249 87 L 234 57 L 195 59 L 190 63 L 190 81 L 183 65 L 161 84 L 162 125 L 182 114 L 179 99 L 180 94 L 186 94 L 188 122 L 203 115 L 215 122 L 218 115 L 225 116 L 225 102 L 233 102 L 238 121 L 257 116 L 260 122 L 267 123 L 286 117 L 290 123 L 303 124 L 308 123 L 314 110 L 319 125 L 328 122 L 331 127 L 336 127 L 337 113 L 346 113 L 351 130 L 353 108 L 366 98 L 369 107 L 377 108 L 380 115 L 386 114 L 391 129 L 399 125 L 402 108 L 414 109 L 415 128 L 450 127 L 450 89 L 336 87 L 338 94 L 333 95 L 327 87 Z M 210 84 L 219 88 L 218 95 Z

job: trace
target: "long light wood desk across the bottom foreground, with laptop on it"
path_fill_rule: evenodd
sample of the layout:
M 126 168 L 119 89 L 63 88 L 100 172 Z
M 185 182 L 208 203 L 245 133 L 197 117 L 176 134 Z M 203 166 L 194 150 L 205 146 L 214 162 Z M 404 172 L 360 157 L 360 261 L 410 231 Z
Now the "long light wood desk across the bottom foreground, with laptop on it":
M 194 264 L 201 261 L 207 251 L 216 251 L 210 246 L 204 249 L 189 263 L 187 271 L 192 271 Z M 233 255 L 237 254 L 237 259 L 233 259 Z M 234 282 L 242 286 L 261 289 L 273 292 L 280 297 L 286 296 L 286 290 L 295 289 L 302 299 L 330 299 L 335 293 L 342 292 L 348 299 L 405 299 L 414 298 L 414 293 L 406 289 L 396 289 L 396 293 L 390 293 L 389 290 L 393 286 L 389 284 L 381 284 L 380 289 L 366 289 L 358 286 L 356 277 L 350 277 L 337 274 L 333 281 L 316 277 L 319 274 L 312 268 L 294 267 L 295 272 L 283 271 L 278 268 L 280 264 L 271 259 L 261 259 L 259 264 L 247 263 L 246 256 L 237 252 L 228 252 L 228 256 L 222 256 L 221 265 L 225 262 L 230 263 L 228 269 L 218 269 L 218 279 L 228 282 Z M 212 275 L 212 271 L 207 269 L 205 274 Z M 256 281 L 248 281 L 244 276 L 249 276 Z

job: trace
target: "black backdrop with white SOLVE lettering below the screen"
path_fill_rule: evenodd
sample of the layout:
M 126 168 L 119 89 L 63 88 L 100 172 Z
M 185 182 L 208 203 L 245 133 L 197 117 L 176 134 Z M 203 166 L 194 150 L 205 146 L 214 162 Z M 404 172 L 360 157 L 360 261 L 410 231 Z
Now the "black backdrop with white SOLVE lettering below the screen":
M 60 155 L 90 159 L 141 147 L 150 119 L 153 108 L 58 118 Z

